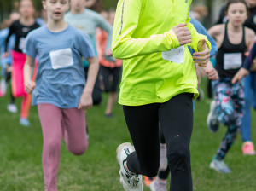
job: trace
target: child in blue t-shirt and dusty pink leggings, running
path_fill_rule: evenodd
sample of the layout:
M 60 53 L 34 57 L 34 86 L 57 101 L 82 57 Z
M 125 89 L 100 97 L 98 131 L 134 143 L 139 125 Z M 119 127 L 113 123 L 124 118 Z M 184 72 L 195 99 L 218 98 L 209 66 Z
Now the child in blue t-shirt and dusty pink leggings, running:
M 69 0 L 43 1 L 47 24 L 26 38 L 24 82 L 26 92 L 32 93 L 32 105 L 38 105 L 43 130 L 45 191 L 57 190 L 62 137 L 75 155 L 88 147 L 84 110 L 92 107 L 99 67 L 89 36 L 64 21 L 69 4 Z M 33 82 L 36 57 L 38 72 Z M 90 63 L 86 85 L 82 57 Z

